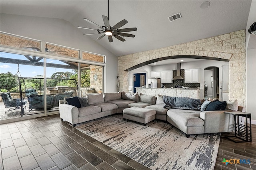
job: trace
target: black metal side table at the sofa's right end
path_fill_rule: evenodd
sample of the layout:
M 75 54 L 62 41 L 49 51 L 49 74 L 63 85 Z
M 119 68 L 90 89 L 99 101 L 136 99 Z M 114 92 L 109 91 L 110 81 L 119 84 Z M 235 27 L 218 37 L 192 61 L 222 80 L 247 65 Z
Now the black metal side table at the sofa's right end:
M 251 122 L 251 114 L 246 112 L 240 111 L 230 111 L 224 112 L 226 114 L 234 115 L 234 128 L 235 128 L 235 135 L 234 136 L 226 136 L 229 140 L 233 142 L 251 142 L 252 141 L 252 122 Z M 240 122 L 239 117 L 245 118 L 245 125 L 244 122 Z M 249 119 L 249 126 L 248 126 L 248 119 Z M 241 120 L 242 121 L 242 120 Z M 231 138 L 238 138 L 240 140 L 233 140 Z

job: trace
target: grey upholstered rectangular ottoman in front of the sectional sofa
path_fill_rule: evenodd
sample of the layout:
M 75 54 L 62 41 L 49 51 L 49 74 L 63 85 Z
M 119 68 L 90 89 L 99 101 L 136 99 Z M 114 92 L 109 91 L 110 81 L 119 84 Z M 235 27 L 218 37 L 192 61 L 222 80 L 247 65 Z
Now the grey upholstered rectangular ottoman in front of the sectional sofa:
M 146 126 L 147 123 L 156 119 L 156 111 L 141 107 L 130 107 L 123 110 L 123 119 L 143 123 Z

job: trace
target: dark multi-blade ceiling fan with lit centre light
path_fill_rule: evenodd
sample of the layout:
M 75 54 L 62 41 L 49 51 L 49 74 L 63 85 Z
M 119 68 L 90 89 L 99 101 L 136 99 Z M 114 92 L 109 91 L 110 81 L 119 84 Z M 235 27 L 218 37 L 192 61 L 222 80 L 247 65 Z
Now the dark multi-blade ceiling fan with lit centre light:
M 137 28 L 123 28 L 123 29 L 119 29 L 120 27 L 122 27 L 122 26 L 124 26 L 125 24 L 128 23 L 128 21 L 126 21 L 126 20 L 122 20 L 122 21 L 118 22 L 113 27 L 110 26 L 110 24 L 109 24 L 109 0 L 108 0 L 108 17 L 103 15 L 102 18 L 103 18 L 103 22 L 105 24 L 104 26 L 99 26 L 98 24 L 95 24 L 94 22 L 88 20 L 87 18 L 84 18 L 84 20 L 86 20 L 90 24 L 98 27 L 99 29 L 84 28 L 84 27 L 77 27 L 77 28 L 98 31 L 97 33 L 84 34 L 84 36 L 94 35 L 94 34 L 103 34 L 104 33 L 102 36 L 100 36 L 96 40 L 100 40 L 104 36 L 108 36 L 108 41 L 109 42 L 113 42 L 112 36 L 114 36 L 114 38 L 117 38 L 118 40 L 124 42 L 125 39 L 122 38 L 121 36 L 123 36 L 123 37 L 135 37 L 135 35 L 133 35 L 133 34 L 127 34 L 127 33 L 124 33 L 124 32 L 137 31 Z

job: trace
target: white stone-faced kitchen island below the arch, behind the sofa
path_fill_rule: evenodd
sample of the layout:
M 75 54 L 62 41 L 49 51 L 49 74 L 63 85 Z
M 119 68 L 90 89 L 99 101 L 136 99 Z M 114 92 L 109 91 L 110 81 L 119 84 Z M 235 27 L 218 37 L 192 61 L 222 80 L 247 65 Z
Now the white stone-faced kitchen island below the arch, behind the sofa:
M 138 94 L 146 95 L 166 95 L 172 97 L 191 97 L 200 99 L 200 89 L 182 89 L 182 88 L 143 88 L 136 87 Z

